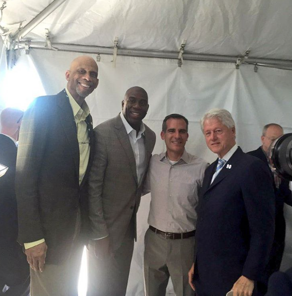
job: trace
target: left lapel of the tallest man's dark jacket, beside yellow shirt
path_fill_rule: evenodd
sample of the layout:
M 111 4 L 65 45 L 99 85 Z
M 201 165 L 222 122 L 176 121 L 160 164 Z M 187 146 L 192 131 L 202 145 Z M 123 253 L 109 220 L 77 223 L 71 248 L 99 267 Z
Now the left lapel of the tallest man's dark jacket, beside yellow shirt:
M 67 97 L 65 89 L 57 95 L 57 104 L 60 107 L 59 120 L 62 122 L 64 133 L 67 137 L 75 164 L 76 176 L 79 178 L 79 144 L 77 137 L 77 128 L 73 116 L 72 107 Z M 79 182 L 79 180 L 78 180 Z

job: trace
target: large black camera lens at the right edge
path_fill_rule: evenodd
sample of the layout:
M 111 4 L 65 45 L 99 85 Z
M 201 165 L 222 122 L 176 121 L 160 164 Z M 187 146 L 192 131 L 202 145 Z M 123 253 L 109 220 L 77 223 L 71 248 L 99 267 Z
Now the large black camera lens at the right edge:
M 267 153 L 269 166 L 282 179 L 292 181 L 292 133 L 272 141 Z

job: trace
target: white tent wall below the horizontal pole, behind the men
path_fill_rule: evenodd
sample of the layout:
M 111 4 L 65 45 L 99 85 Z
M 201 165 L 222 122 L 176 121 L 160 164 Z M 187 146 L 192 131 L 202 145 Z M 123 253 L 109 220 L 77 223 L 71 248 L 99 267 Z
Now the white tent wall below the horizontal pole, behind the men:
M 21 64 L 34 66 L 40 80 L 28 80 L 22 92 L 31 93 L 36 84 L 43 84 L 45 93 L 55 94 L 66 86 L 65 72 L 78 53 L 31 49 L 30 55 L 20 52 L 15 67 Z M 96 57 L 95 55 L 91 55 Z M 2 61 L 3 54 L 1 57 Z M 188 152 L 212 162 L 216 156 L 206 147 L 200 130 L 199 119 L 210 108 L 228 109 L 236 122 L 237 143 L 243 151 L 260 145 L 261 128 L 269 122 L 283 126 L 284 132 L 292 132 L 291 93 L 292 72 L 241 65 L 238 70 L 232 63 L 117 57 L 116 68 L 112 56 L 101 55 L 100 83 L 87 102 L 94 125 L 114 117 L 121 110 L 125 91 L 134 85 L 142 86 L 149 95 L 149 111 L 145 123 L 157 134 L 154 153 L 164 150 L 159 134 L 163 118 L 170 113 L 181 113 L 190 121 Z M 2 73 L 2 69 L 0 73 Z M 24 72 L 23 76 L 28 72 Z M 15 81 L 17 88 L 18 81 Z M 11 96 L 15 89 L 11 89 Z M 40 93 L 42 95 L 43 93 Z M 37 94 L 38 95 L 38 94 Z M 0 106 L 6 98 L 0 96 Z M 143 240 L 147 228 L 150 196 L 142 198 L 138 212 L 138 242 L 135 244 L 130 272 L 128 296 L 143 295 Z M 289 210 L 289 209 L 288 209 Z M 291 215 L 289 215 L 291 217 Z M 287 220 L 287 237 L 292 237 L 292 219 Z M 292 266 L 292 242 L 286 244 L 285 266 Z M 171 286 L 168 289 L 171 294 Z

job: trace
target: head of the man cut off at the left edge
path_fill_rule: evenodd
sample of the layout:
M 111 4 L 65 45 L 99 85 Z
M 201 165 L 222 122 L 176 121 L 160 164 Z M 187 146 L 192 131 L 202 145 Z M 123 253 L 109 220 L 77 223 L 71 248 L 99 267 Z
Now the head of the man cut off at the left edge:
M 18 140 L 24 111 L 16 108 L 6 108 L 1 112 L 1 132 Z

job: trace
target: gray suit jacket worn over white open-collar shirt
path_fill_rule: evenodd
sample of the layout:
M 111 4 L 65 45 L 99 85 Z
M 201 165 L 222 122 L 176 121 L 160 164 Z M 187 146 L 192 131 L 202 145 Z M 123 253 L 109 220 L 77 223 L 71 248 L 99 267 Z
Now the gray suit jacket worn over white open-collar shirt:
M 147 171 L 156 137 L 146 125 L 144 135 Z M 89 176 L 91 238 L 109 235 L 115 250 L 132 216 L 136 225 L 142 186 L 138 186 L 134 153 L 120 115 L 95 127 L 94 138 L 95 157 Z

